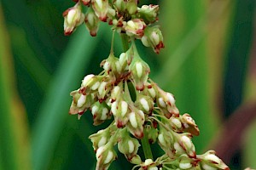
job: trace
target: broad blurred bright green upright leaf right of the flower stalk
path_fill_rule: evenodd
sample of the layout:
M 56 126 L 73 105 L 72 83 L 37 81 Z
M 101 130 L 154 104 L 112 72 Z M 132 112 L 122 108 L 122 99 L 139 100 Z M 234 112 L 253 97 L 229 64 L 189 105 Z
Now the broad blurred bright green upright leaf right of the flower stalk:
M 161 13 L 161 16 L 169 16 L 162 17 L 162 23 L 166 23 L 163 33 L 167 43 L 161 54 L 163 65 L 155 80 L 175 95 L 182 114 L 189 111 L 194 117 L 201 129 L 201 135 L 194 142 L 201 153 L 216 127 L 216 116 L 213 115 L 211 96 L 208 94 L 207 3 L 165 1 L 161 6 L 169 8 Z

